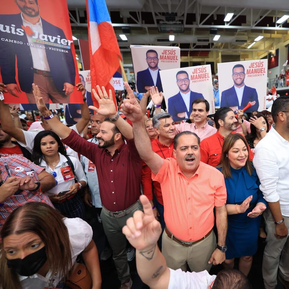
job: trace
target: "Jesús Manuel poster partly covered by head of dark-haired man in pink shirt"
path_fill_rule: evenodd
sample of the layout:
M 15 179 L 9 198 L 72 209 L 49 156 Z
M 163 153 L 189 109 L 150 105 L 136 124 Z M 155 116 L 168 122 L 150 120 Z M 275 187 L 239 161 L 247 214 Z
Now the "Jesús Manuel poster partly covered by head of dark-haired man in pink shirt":
M 160 71 L 168 113 L 174 121 L 189 119 L 192 103 L 204 98 L 210 104 L 209 114 L 215 113 L 211 65 L 199 65 Z

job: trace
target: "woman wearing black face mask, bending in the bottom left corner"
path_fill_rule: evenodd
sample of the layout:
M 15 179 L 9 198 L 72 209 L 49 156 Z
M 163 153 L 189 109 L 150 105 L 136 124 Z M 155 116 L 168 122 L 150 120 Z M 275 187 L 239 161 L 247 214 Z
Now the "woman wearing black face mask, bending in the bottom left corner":
M 101 288 L 92 229 L 82 219 L 63 218 L 44 203 L 27 203 L 10 214 L 0 236 L 0 288 L 64 288 L 80 253 L 92 289 Z

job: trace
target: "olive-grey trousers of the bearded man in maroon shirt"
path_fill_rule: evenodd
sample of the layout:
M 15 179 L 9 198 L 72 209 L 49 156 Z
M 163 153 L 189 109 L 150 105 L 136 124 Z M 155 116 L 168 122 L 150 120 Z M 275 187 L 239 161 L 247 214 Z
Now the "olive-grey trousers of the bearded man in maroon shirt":
M 132 217 L 134 212 L 137 210 L 143 211 L 141 204 L 139 204 L 139 206 L 129 214 L 120 218 L 110 216 L 110 214 L 104 209 L 101 210 L 100 214 L 104 233 L 106 234 L 109 245 L 112 249 L 112 258 L 121 284 L 128 282 L 130 278 L 126 251 L 127 238 L 122 234 L 122 227 L 126 225 L 127 219 Z

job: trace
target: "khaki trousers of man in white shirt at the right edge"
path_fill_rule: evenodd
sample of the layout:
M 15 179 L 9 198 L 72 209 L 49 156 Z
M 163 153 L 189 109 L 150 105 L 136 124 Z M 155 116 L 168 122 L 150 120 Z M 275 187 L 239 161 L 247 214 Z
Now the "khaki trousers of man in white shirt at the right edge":
M 265 288 L 273 289 L 277 286 L 278 267 L 280 276 L 289 281 L 289 234 L 283 239 L 276 238 L 275 223 L 269 208 L 263 216 L 266 223 L 267 244 L 263 255 L 262 273 Z M 283 218 L 289 231 L 289 217 L 283 216 Z

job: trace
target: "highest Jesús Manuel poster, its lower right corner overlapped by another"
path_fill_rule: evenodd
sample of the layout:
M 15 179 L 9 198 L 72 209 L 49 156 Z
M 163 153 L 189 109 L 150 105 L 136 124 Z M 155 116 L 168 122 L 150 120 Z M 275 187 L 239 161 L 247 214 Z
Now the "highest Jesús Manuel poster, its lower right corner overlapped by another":
M 180 48 L 130 45 L 136 90 L 145 93 L 151 86 L 163 91 L 160 71 L 180 68 Z

